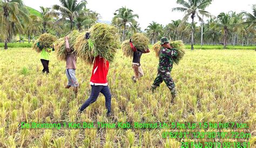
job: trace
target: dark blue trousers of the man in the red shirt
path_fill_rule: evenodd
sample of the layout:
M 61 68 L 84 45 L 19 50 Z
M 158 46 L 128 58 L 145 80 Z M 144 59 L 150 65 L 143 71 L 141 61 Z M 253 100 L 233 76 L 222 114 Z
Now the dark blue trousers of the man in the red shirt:
M 99 93 L 102 93 L 105 96 L 105 106 L 107 109 L 107 113 L 111 112 L 111 93 L 109 90 L 109 86 L 92 86 L 92 91 L 90 97 L 84 102 L 82 107 L 80 107 L 80 111 L 83 111 L 87 108 L 90 104 L 94 103 Z

